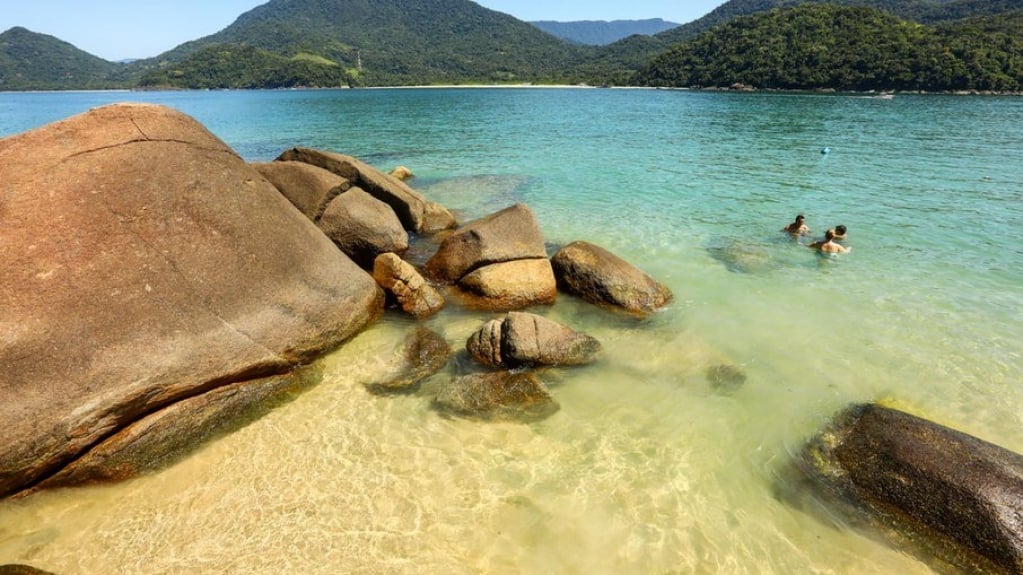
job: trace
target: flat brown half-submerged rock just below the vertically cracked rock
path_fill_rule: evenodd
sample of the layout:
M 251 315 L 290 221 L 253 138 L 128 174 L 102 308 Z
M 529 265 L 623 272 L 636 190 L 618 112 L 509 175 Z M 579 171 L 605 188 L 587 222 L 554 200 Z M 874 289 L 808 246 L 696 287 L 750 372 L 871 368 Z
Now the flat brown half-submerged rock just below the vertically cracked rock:
M 487 421 L 536 422 L 559 409 L 532 372 L 496 371 L 451 380 L 434 400 L 445 414 Z

